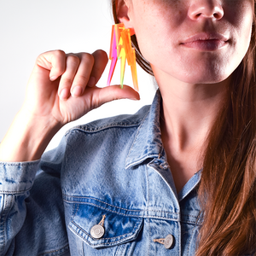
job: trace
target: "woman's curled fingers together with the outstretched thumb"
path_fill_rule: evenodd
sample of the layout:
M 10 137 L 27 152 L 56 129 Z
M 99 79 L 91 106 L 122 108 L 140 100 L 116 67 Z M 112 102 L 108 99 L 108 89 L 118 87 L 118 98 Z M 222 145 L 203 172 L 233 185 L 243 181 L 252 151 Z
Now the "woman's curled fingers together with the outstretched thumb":
M 124 90 L 120 90 L 119 86 L 97 90 L 95 85 L 101 79 L 108 64 L 108 55 L 103 50 L 96 50 L 92 55 L 88 53 L 66 55 L 61 50 L 51 51 L 40 55 L 38 63 L 49 70 L 49 79 L 58 85 L 58 95 L 61 100 L 67 100 L 69 96 L 75 98 L 83 96 L 86 87 L 88 88 L 86 94 L 89 94 L 87 96 L 92 100 L 93 106 L 90 106 L 92 108 L 121 98 L 139 99 L 139 95 L 129 86 Z M 90 92 L 93 92 L 91 96 Z

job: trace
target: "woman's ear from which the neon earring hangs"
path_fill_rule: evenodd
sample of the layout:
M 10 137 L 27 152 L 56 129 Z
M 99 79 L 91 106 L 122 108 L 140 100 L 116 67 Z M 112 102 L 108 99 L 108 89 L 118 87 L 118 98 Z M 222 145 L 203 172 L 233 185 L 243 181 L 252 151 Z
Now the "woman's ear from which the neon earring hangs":
M 116 15 L 120 23 L 124 23 L 125 28 L 129 28 L 131 36 L 135 34 L 134 27 L 132 24 L 130 11 L 131 11 L 131 0 L 116 0 Z

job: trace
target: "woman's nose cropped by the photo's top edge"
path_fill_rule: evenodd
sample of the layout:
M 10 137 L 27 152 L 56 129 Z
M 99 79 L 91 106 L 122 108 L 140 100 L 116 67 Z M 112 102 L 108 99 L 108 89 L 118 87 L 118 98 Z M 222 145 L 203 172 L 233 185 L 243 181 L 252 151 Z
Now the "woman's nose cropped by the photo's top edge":
M 192 0 L 189 6 L 189 18 L 200 20 L 211 18 L 220 20 L 224 16 L 224 9 L 219 0 Z

